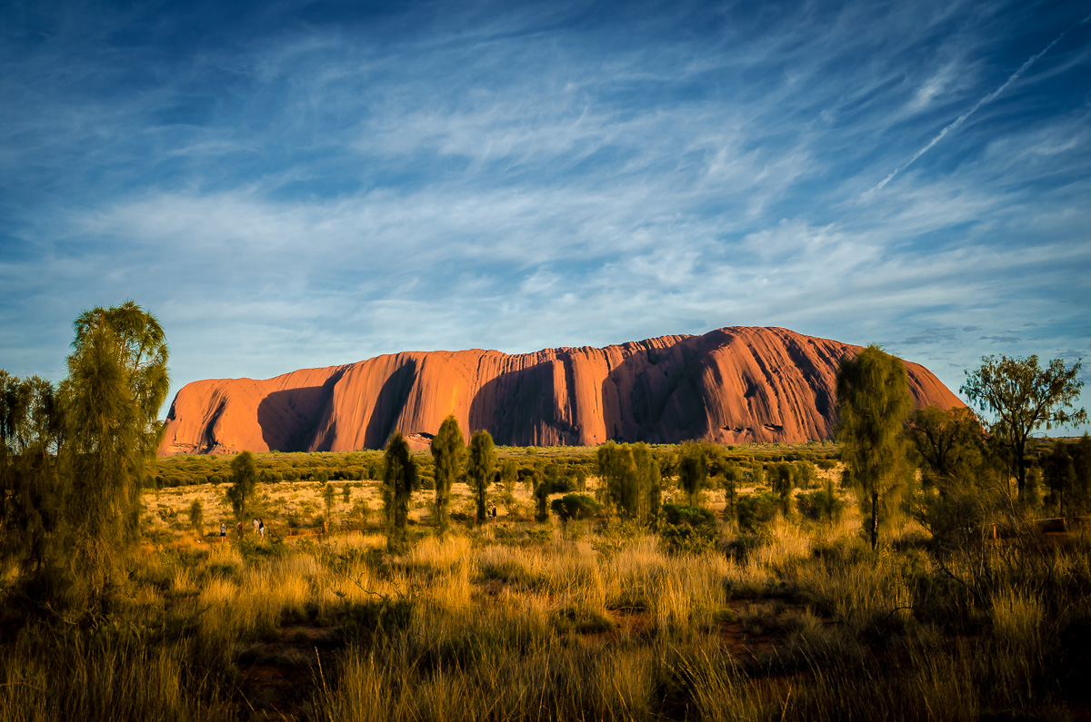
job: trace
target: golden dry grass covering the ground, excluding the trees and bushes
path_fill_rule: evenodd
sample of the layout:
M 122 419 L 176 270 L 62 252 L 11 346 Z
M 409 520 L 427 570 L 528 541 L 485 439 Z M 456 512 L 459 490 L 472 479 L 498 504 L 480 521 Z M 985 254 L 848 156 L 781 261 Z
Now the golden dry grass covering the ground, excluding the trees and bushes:
M 249 519 L 235 532 L 224 485 L 145 492 L 125 601 L 92 634 L 8 612 L 0 719 L 1076 719 L 1087 703 L 1080 534 L 1055 549 L 978 529 L 940 549 L 892 520 L 873 551 L 855 504 L 741 531 L 706 491 L 716 543 L 686 553 L 609 514 L 533 524 L 519 484 L 511 512 L 491 490 L 496 521 L 443 537 L 432 492 L 413 494 L 392 554 L 377 482 L 333 483 L 338 533 L 314 537 L 291 532 L 325 508 L 315 483 L 259 485 L 264 539 Z M 363 528 L 340 532 L 361 503 Z

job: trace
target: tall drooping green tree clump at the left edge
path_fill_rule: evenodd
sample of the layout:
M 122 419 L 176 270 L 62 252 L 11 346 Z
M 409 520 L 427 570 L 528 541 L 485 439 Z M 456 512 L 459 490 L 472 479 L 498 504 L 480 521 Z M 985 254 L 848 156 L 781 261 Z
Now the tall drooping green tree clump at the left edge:
M 58 387 L 0 371 L 0 555 L 26 598 L 96 616 L 124 579 L 160 436 L 166 336 L 129 301 L 74 322 Z

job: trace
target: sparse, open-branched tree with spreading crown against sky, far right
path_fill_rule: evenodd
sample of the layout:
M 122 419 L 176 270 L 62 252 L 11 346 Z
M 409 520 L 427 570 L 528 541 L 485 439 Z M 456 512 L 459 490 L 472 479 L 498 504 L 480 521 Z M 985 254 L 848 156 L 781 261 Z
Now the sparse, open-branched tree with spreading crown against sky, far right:
M 1021 502 L 1026 501 L 1027 442 L 1031 433 L 1042 426 L 1075 426 L 1088 420 L 1087 410 L 1074 406 L 1083 387 L 1079 376 L 1080 361 L 1066 368 L 1063 360 L 1053 359 L 1042 369 L 1038 356 L 986 356 L 979 369 L 966 372 L 966 383 L 959 390 L 979 409 L 994 416 L 988 431 L 1011 454 Z

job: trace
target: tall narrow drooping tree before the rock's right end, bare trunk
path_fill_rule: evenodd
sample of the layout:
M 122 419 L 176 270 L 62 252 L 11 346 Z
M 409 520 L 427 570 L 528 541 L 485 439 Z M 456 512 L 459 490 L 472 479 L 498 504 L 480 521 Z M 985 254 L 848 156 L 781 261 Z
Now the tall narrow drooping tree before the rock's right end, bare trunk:
M 911 472 L 902 424 L 912 408 L 906 366 L 874 344 L 837 368 L 837 434 L 846 473 L 865 510 L 872 549 L 878 544 L 879 503 Z

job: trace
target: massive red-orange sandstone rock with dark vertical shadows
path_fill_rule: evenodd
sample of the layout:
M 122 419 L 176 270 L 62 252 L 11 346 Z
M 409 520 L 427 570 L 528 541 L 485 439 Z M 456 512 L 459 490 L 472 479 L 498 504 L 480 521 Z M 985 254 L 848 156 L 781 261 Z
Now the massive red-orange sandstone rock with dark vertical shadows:
M 834 434 L 838 360 L 859 346 L 784 328 L 729 327 L 602 349 L 424 351 L 265 381 L 183 387 L 160 455 L 381 448 L 395 430 L 428 438 L 455 414 L 467 440 L 594 445 L 805 442 Z M 906 363 L 918 407 L 963 406 Z

